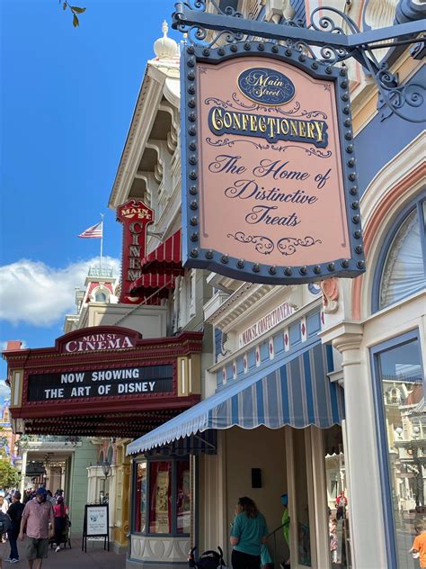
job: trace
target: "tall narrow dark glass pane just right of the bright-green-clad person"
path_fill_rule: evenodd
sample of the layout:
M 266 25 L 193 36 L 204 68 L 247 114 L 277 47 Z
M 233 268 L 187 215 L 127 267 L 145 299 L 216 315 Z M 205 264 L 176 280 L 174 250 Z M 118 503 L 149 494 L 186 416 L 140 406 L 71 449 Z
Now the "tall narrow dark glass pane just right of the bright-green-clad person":
M 294 429 L 298 563 L 311 566 L 309 500 L 307 496 L 305 431 Z

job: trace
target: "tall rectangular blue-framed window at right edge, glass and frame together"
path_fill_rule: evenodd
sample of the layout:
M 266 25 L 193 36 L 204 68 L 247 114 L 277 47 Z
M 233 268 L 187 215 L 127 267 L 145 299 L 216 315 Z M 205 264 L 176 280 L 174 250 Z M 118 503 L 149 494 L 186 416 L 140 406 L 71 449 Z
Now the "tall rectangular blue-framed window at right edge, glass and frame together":
M 389 568 L 413 567 L 415 528 L 426 519 L 426 414 L 417 332 L 373 349 Z

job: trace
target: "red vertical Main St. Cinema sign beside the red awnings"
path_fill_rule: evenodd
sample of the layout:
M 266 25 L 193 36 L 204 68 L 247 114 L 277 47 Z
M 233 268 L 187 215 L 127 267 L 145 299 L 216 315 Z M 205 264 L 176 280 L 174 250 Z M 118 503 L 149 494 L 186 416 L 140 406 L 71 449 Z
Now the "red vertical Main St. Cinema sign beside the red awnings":
M 146 226 L 154 222 L 154 211 L 143 202 L 130 200 L 117 208 L 117 221 L 123 226 L 120 303 L 136 303 L 130 287 L 142 276 L 141 261 L 146 253 Z

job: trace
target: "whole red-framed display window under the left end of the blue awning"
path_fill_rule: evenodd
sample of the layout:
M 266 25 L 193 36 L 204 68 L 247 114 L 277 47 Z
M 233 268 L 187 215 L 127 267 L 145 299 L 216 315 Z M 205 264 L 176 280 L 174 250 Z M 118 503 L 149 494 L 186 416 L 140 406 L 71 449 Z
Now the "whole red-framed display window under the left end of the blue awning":
M 134 532 L 187 535 L 191 531 L 188 459 L 143 460 L 134 466 Z

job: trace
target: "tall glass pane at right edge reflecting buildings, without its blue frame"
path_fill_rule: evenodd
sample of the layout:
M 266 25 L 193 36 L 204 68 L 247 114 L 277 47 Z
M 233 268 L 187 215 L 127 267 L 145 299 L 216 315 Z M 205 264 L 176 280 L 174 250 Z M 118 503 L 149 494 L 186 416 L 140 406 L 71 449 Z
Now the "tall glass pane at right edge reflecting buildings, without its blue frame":
M 426 414 L 417 339 L 378 356 L 399 569 L 416 565 L 408 550 L 414 524 L 426 519 Z

